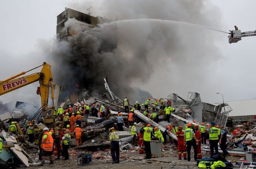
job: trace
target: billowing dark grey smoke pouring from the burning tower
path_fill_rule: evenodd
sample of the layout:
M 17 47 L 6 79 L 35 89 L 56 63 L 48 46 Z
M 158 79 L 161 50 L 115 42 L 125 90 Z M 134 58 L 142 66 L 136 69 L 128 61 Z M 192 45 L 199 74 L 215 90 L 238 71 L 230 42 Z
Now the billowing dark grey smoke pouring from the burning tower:
M 211 26 L 218 14 L 214 7 L 205 11 L 206 6 L 204 1 L 102 1 L 94 6 L 97 15 L 118 21 L 88 31 L 69 19 L 66 26 L 78 33 L 57 42 L 52 51 L 55 82 L 100 93 L 103 78 L 108 77 L 117 96 L 135 101 L 134 86 L 148 83 L 161 93 L 170 86 L 184 90 L 185 82 L 195 78 L 203 81 L 202 70 L 210 69 L 203 63 L 217 58 L 212 42 L 218 36 L 213 31 L 163 20 Z M 74 5 L 84 13 L 87 7 L 88 2 Z

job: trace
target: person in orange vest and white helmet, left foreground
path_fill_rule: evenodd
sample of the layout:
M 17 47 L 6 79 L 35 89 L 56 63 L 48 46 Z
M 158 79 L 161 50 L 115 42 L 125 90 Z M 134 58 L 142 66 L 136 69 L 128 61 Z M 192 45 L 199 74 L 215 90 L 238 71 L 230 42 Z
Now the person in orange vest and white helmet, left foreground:
M 44 128 L 44 135 L 42 136 L 42 162 L 39 164 L 39 166 L 42 166 L 45 164 L 46 156 L 49 156 L 50 158 L 50 164 L 53 164 L 53 138 L 52 135 L 49 133 L 49 128 Z

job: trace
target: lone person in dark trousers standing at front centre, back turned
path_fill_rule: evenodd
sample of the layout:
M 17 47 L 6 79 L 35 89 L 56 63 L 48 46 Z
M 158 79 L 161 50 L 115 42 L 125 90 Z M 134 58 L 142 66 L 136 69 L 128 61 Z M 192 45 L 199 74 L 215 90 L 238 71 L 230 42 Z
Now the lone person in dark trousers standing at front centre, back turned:
M 112 164 L 119 163 L 119 136 L 115 127 L 110 128 L 110 132 Z

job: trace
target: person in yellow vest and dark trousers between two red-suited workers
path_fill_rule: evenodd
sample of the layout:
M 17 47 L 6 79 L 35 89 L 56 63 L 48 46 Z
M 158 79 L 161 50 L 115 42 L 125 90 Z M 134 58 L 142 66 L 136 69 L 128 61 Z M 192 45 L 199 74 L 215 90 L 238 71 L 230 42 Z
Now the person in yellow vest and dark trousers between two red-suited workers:
M 185 130 L 185 135 L 184 135 L 184 145 L 187 145 L 187 161 L 190 161 L 191 157 L 190 157 L 190 151 L 191 151 L 191 147 L 193 147 L 194 149 L 194 159 L 195 161 L 197 160 L 197 138 L 195 136 L 195 133 L 192 129 L 192 125 L 191 123 L 187 124 L 187 129 Z

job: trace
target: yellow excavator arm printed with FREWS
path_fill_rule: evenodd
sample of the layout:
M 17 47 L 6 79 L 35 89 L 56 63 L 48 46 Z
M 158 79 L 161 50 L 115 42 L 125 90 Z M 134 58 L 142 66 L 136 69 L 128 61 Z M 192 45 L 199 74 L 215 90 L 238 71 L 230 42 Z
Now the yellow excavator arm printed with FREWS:
M 38 67 L 41 67 L 41 72 L 33 73 L 28 76 L 20 77 L 29 71 L 32 71 Z M 51 72 L 51 65 L 44 62 L 43 64 L 36 66 L 28 71 L 21 72 L 14 75 L 6 80 L 0 80 L 0 96 L 16 89 L 25 87 L 35 81 L 39 81 L 40 87 L 37 88 L 36 93 L 41 96 L 41 112 L 44 117 L 44 123 L 53 123 L 53 112 L 54 112 L 54 94 L 53 94 L 53 78 Z M 51 89 L 52 105 L 48 107 L 48 98 Z M 51 114 L 47 114 L 48 110 L 51 109 Z

